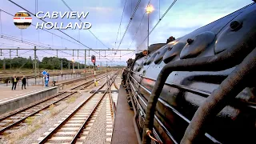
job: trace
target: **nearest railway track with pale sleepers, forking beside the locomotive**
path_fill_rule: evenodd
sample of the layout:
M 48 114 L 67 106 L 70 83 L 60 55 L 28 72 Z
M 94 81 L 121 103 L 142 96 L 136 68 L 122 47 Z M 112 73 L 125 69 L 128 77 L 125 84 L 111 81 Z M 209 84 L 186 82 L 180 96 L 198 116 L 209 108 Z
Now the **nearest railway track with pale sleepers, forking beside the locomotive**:
M 93 125 L 99 110 L 104 102 L 106 103 L 107 110 L 107 123 L 111 123 L 113 126 L 113 113 L 111 113 L 110 106 L 110 86 L 114 83 L 114 79 L 117 77 L 118 72 L 114 76 L 107 80 L 102 86 L 98 87 L 93 94 L 90 95 L 85 101 L 81 102 L 70 114 L 62 118 L 58 124 L 55 124 L 49 132 L 46 132 L 43 137 L 38 138 L 38 144 L 42 143 L 82 143 L 86 139 L 86 135 L 89 134 L 90 128 Z M 103 94 L 97 94 L 99 90 L 105 88 Z M 109 99 L 108 99 L 108 98 Z M 111 116 L 112 115 L 112 116 Z M 110 130 L 110 126 L 108 130 Z M 112 132 L 111 132 L 112 135 Z M 111 138 L 111 135 L 109 137 Z M 110 138 L 108 138 L 110 140 Z

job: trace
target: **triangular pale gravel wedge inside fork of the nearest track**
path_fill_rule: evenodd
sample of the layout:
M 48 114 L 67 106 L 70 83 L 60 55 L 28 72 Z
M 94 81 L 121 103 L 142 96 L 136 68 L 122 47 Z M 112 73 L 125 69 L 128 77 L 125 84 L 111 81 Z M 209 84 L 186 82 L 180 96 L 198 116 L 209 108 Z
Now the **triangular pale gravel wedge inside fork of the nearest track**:
M 100 113 L 98 113 L 94 125 L 91 127 L 91 130 L 83 143 L 106 143 L 106 97 L 102 109 L 100 110 Z

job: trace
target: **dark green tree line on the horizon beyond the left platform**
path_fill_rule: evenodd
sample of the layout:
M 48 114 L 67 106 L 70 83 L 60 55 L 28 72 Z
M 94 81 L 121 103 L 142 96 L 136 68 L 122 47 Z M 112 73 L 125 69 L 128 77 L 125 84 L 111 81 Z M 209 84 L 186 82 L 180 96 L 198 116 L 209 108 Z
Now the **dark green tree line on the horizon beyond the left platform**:
M 83 69 L 85 64 L 80 62 L 74 62 L 74 69 Z M 72 62 L 66 58 L 56 58 L 56 57 L 44 57 L 42 61 L 37 60 L 37 67 L 39 69 L 48 70 L 61 70 L 62 69 L 72 69 Z M 34 60 L 30 58 L 4 58 L 0 59 L 0 69 L 33 69 Z

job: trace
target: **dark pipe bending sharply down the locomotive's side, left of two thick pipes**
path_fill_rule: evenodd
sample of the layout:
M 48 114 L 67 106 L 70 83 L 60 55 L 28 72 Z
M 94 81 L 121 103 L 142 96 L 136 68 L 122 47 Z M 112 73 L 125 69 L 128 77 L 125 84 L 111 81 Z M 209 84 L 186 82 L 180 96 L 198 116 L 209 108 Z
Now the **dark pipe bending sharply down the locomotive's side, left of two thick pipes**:
M 166 79 L 172 71 L 219 71 L 234 67 L 242 62 L 242 59 L 253 50 L 256 45 L 254 42 L 255 37 L 254 31 L 250 31 L 248 37 L 241 39 L 236 47 L 224 50 L 222 53 L 209 57 L 188 58 L 166 64 L 158 74 L 157 81 L 148 100 L 142 143 L 150 143 L 150 138 L 147 136 L 146 131 L 152 131 L 153 129 L 155 106 Z

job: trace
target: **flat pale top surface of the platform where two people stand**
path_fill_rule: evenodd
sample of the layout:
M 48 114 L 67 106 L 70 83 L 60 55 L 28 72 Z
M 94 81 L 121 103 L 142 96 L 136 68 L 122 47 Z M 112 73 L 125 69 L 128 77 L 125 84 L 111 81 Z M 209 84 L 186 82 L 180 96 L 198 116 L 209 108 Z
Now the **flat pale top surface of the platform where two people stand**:
M 22 90 L 21 86 L 17 86 L 16 90 L 11 90 L 11 86 L 0 87 L 0 104 L 10 99 L 22 97 L 23 95 L 33 94 L 38 91 L 50 89 L 43 86 L 27 86 Z

